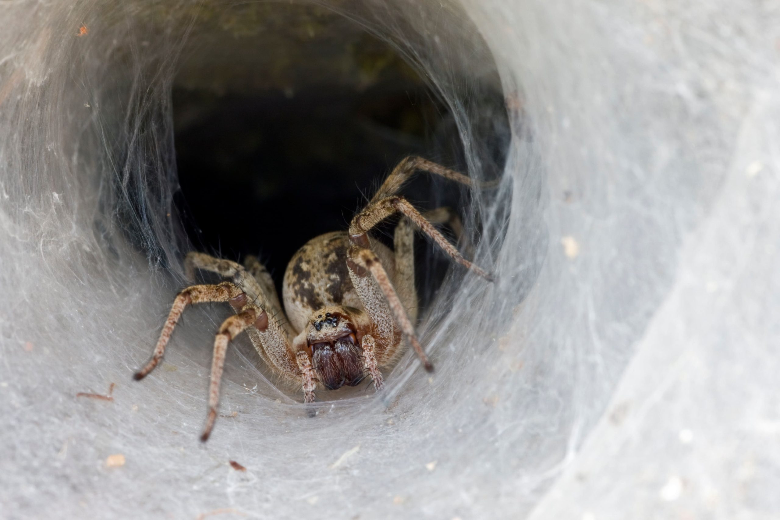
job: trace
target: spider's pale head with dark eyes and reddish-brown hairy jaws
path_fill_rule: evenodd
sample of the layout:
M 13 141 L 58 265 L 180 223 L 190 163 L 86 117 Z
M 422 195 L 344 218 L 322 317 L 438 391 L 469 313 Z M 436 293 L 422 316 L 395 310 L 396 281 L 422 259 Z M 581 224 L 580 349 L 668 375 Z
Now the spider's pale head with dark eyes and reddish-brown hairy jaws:
M 344 307 L 324 307 L 307 327 L 307 342 L 317 379 L 331 390 L 360 383 L 363 349 L 357 341 L 352 313 Z

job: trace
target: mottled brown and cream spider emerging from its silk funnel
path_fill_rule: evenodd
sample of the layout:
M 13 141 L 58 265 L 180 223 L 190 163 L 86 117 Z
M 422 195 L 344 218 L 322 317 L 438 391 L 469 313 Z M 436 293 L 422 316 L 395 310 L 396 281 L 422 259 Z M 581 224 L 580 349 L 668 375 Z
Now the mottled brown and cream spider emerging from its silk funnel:
M 241 265 L 204 253 L 188 253 L 184 260 L 188 279 L 193 280 L 196 270 L 203 270 L 229 281 L 190 285 L 176 295 L 152 358 L 135 378 L 146 377 L 160 363 L 165 345 L 186 306 L 203 302 L 229 302 L 236 311 L 216 334 L 208 415 L 200 437 L 203 441 L 211 434 L 217 417 L 219 383 L 228 342 L 243 331 L 274 373 L 303 388 L 305 403 L 314 402 L 317 384 L 331 390 L 355 386 L 366 373 L 374 380 L 374 386 L 381 389 L 384 383 L 381 368 L 398 359 L 407 343 L 417 352 L 425 370 L 432 371 L 433 365 L 425 356 L 413 325 L 417 320 L 414 228 L 433 239 L 452 260 L 488 281 L 492 277 L 466 260 L 434 228 L 434 224 L 449 223 L 459 235 L 460 219 L 452 210 L 440 207 L 423 215 L 397 195 L 403 183 L 417 171 L 473 186 L 466 175 L 421 157 L 406 157 L 352 219 L 349 232 L 317 236 L 293 255 L 282 285 L 286 313 L 271 275 L 257 258 L 249 257 Z M 395 227 L 391 251 L 368 232 L 396 213 L 402 214 L 402 218 Z

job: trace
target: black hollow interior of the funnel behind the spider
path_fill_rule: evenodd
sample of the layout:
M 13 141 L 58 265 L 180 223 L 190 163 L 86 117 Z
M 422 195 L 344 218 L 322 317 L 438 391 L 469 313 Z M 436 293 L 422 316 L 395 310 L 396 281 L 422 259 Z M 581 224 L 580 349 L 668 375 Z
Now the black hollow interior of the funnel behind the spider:
M 463 171 L 463 147 L 446 105 L 408 67 L 388 70 L 368 88 L 325 83 L 294 94 L 174 88 L 175 202 L 193 246 L 231 260 L 257 255 L 281 291 L 293 253 L 317 235 L 346 230 L 403 157 L 421 155 Z M 486 102 L 503 110 L 498 93 Z M 506 133 L 499 134 L 486 134 L 495 141 L 495 164 L 503 164 L 506 145 Z M 421 210 L 463 210 L 468 196 L 430 175 L 418 175 L 402 194 Z M 391 245 L 394 224 L 374 235 Z M 417 263 L 425 305 L 451 263 L 421 237 Z

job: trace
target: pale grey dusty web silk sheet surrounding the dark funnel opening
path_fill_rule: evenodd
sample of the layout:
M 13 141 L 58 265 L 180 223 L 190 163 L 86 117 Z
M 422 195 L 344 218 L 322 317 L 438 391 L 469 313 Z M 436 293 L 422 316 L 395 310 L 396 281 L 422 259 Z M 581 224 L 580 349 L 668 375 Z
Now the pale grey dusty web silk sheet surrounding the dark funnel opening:
M 131 375 L 190 249 L 172 84 L 236 5 L 0 2 L 0 517 L 778 518 L 778 6 L 329 7 L 424 72 L 475 178 L 495 77 L 466 222 L 498 281 L 452 270 L 432 377 L 407 355 L 314 419 L 231 348 L 200 444 L 229 310 Z

